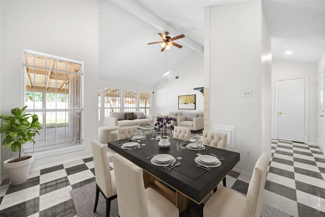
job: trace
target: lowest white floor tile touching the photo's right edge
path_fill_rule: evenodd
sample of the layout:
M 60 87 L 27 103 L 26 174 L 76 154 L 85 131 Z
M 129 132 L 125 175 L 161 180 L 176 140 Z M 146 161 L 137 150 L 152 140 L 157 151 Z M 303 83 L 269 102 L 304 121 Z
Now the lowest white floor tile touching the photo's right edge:
M 297 190 L 297 202 L 325 212 L 325 199 Z

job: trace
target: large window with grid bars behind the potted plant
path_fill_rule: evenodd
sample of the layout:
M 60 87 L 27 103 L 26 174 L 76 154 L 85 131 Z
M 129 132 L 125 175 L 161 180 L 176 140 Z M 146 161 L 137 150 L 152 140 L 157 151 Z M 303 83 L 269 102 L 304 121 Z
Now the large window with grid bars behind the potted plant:
M 36 145 L 26 143 L 24 153 L 82 149 L 83 63 L 23 50 L 23 74 L 25 112 L 37 114 L 42 124 Z

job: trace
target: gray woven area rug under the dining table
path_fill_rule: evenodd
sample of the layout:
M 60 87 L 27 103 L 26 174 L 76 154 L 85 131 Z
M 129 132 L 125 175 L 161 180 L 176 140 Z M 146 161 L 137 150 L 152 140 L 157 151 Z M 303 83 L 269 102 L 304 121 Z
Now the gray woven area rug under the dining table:
M 70 192 L 73 203 L 76 208 L 78 217 L 88 217 L 88 216 L 105 216 L 106 212 L 106 202 L 102 194 L 100 194 L 100 199 L 96 212 L 93 212 L 93 206 L 95 204 L 95 189 L 96 182 L 91 182 L 82 187 L 74 189 Z M 212 194 L 210 195 L 212 196 Z M 118 217 L 118 205 L 117 199 L 111 202 L 111 217 Z M 282 212 L 268 204 L 263 203 L 262 205 L 262 217 L 290 217 L 289 214 Z

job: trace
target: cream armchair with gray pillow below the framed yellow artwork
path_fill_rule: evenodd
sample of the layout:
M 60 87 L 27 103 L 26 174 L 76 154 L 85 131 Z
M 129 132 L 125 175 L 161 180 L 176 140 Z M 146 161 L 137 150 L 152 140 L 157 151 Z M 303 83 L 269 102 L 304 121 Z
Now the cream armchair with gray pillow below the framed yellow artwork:
M 189 128 L 192 131 L 202 130 L 204 128 L 203 118 L 200 112 L 188 112 L 187 116 L 177 118 L 179 127 Z

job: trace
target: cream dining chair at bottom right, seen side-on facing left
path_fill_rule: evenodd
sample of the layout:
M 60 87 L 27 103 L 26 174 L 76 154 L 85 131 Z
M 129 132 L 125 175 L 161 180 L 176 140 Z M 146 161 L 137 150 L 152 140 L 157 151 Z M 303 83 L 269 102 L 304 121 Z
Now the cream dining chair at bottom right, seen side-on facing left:
M 205 204 L 203 208 L 203 217 L 261 216 L 269 160 L 270 156 L 267 153 L 263 153 L 257 160 L 252 178 L 248 185 L 246 197 L 221 186 Z

